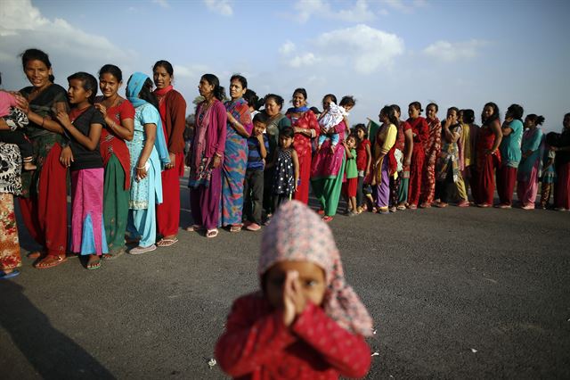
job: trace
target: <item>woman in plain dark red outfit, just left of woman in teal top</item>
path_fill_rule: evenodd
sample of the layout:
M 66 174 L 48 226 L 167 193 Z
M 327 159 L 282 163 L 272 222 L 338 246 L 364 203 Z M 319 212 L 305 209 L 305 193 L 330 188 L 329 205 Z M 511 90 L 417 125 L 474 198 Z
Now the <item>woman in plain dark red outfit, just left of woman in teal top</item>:
M 493 206 L 495 192 L 494 172 L 501 164 L 502 131 L 499 120 L 499 107 L 495 103 L 486 103 L 481 115 L 483 125 L 479 128 L 476 141 L 476 186 L 471 193 L 477 206 Z

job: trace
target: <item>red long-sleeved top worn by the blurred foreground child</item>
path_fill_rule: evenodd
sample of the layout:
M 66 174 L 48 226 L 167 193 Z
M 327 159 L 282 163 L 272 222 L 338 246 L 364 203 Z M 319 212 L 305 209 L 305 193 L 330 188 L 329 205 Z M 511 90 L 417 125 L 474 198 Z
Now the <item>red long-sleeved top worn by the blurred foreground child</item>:
M 263 294 L 251 293 L 233 302 L 216 359 L 240 379 L 337 379 L 365 376 L 371 351 L 312 303 L 288 328 Z

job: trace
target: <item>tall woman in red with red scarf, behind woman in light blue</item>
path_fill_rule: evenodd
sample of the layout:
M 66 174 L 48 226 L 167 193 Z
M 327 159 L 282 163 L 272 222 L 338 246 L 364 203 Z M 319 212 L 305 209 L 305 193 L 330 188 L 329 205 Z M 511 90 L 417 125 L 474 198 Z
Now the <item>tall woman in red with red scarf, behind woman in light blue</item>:
M 159 61 L 152 68 L 154 95 L 159 99 L 159 113 L 167 139 L 170 163 L 162 170 L 162 203 L 157 205 L 157 245 L 168 247 L 178 241 L 180 223 L 180 177 L 184 175 L 184 129 L 186 101 L 172 87 L 174 69 L 170 62 Z

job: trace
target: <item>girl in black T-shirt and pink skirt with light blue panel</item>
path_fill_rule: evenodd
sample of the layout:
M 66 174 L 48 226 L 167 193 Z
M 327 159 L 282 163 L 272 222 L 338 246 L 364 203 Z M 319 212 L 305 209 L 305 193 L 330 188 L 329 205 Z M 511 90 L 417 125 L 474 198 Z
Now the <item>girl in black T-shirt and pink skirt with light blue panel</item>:
M 87 269 L 101 267 L 101 256 L 109 253 L 103 226 L 103 160 L 99 139 L 105 121 L 94 107 L 97 79 L 86 72 L 68 77 L 69 115 L 57 119 L 69 137 L 60 161 L 71 171 L 71 252 L 88 255 Z

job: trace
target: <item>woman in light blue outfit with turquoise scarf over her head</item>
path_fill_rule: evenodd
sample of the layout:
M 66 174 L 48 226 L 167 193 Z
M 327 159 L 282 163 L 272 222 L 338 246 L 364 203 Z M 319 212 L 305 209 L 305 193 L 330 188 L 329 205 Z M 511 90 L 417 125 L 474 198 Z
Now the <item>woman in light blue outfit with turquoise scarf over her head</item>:
M 162 203 L 160 172 L 170 159 L 151 78 L 135 72 L 128 79 L 126 97 L 134 106 L 134 136 L 126 142 L 133 170 L 126 231 L 132 242 L 138 242 L 129 253 L 141 254 L 157 249 L 156 204 Z

